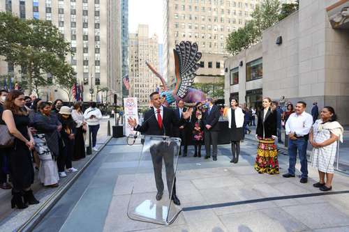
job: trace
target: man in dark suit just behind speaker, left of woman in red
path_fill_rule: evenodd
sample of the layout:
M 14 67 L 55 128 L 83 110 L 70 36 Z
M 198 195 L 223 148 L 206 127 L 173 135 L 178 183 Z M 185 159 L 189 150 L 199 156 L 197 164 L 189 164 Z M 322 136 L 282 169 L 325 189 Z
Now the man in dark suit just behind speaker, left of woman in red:
M 178 127 L 179 138 L 181 138 L 181 146 L 183 146 L 183 157 L 186 157 L 188 153 L 188 134 L 190 134 L 190 125 L 187 120 L 184 120 L 183 113 L 186 111 L 184 108 L 184 100 L 179 100 L 177 102 L 177 109 L 174 110 L 174 113 L 177 116 L 177 120 L 180 122 Z M 181 155 L 181 149 L 179 150 L 179 155 Z

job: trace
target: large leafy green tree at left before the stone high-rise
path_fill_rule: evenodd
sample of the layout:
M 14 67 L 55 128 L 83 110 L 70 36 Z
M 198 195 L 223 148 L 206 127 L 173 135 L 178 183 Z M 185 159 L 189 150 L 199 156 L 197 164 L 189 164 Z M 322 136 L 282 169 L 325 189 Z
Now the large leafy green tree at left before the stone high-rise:
M 0 38 L 0 55 L 21 66 L 30 93 L 35 88 L 38 94 L 40 87 L 50 84 L 45 74 L 62 77 L 57 67 L 67 64 L 70 45 L 50 22 L 21 20 L 9 13 L 0 13 Z

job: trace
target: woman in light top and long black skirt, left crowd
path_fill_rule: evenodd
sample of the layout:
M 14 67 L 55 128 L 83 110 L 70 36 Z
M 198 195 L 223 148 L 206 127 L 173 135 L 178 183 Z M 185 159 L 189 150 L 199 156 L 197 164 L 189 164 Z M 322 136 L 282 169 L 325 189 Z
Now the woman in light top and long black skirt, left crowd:
M 71 116 L 73 117 L 73 120 L 76 124 L 75 146 L 72 159 L 80 160 L 86 157 L 84 133 L 87 132 L 87 123 L 84 119 L 84 113 L 82 112 L 80 102 L 75 102 L 73 110 L 71 111 Z

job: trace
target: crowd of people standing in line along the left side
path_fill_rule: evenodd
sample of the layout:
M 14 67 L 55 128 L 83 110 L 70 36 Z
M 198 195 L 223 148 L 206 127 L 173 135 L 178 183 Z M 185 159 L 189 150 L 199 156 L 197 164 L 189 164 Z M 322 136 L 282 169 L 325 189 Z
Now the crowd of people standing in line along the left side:
M 87 127 L 98 150 L 102 114 L 95 102 L 83 113 L 81 102 L 68 107 L 62 100 L 44 101 L 18 90 L 0 90 L 0 95 L 0 125 L 7 129 L 0 138 L 0 188 L 12 189 L 12 208 L 27 208 L 39 203 L 31 190 L 35 174 L 43 186 L 58 187 L 59 178 L 77 171 L 72 161 L 86 156 Z

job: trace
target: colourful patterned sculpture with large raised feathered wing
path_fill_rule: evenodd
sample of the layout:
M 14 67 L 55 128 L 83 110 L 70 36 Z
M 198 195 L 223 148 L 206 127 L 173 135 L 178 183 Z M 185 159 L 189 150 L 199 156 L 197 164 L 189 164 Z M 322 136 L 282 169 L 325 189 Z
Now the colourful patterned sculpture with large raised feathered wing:
M 190 88 L 195 79 L 195 72 L 200 68 L 198 61 L 201 59 L 201 52 L 199 52 L 198 44 L 190 41 L 181 41 L 179 45 L 176 45 L 176 49 L 173 49 L 174 53 L 174 65 L 176 75 L 176 86 L 173 90 L 168 90 L 163 77 L 146 62 L 149 69 L 154 72 L 156 77 L 161 79 L 164 91 L 161 92 L 161 96 L 165 95 L 166 100 L 164 105 L 170 105 L 179 99 L 183 99 L 184 102 L 195 103 L 203 102 L 206 100 L 206 94 L 196 88 Z

